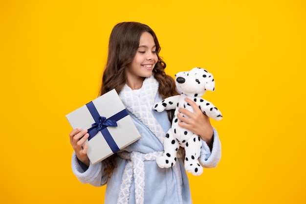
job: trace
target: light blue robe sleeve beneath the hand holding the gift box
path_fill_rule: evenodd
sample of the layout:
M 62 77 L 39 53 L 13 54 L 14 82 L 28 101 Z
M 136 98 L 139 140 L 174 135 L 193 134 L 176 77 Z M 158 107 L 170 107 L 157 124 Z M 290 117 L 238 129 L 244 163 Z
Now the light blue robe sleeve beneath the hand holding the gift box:
M 78 160 L 75 152 L 73 152 L 71 159 L 71 167 L 74 175 L 82 183 L 89 183 L 93 186 L 105 185 L 108 181 L 108 175 L 104 173 L 105 166 L 102 162 L 95 165 L 89 164 L 89 167 L 85 166 Z

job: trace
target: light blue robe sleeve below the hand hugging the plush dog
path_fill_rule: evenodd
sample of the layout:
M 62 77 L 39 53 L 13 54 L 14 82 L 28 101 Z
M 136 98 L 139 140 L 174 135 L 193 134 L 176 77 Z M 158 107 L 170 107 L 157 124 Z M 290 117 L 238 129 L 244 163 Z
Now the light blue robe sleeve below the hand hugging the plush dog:
M 214 142 L 212 151 L 210 151 L 207 143 L 202 140 L 202 148 L 199 161 L 204 168 L 217 167 L 219 160 L 221 159 L 221 143 L 217 130 L 214 128 Z

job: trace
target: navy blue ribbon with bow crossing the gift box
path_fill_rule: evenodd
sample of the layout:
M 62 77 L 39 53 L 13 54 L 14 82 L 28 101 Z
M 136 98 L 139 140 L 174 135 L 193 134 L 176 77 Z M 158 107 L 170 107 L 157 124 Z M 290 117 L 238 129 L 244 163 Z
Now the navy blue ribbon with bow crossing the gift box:
M 116 113 L 112 116 L 110 116 L 108 119 L 106 119 L 106 117 L 101 116 L 96 107 L 94 106 L 94 104 L 91 102 L 86 104 L 88 111 L 90 112 L 90 114 L 92 115 L 95 123 L 92 124 L 92 127 L 88 129 L 88 141 L 90 139 L 92 139 L 92 137 L 96 136 L 99 131 L 102 133 L 102 135 L 104 136 L 106 142 L 108 143 L 111 151 L 113 153 L 118 152 L 120 149 L 117 146 L 115 140 L 112 138 L 112 136 L 110 135 L 107 127 L 108 126 L 113 126 L 116 127 L 117 126 L 117 122 L 118 120 L 124 118 L 125 116 L 129 115 L 129 113 L 127 112 L 126 109 L 123 109 L 122 111 L 120 111 L 119 113 Z

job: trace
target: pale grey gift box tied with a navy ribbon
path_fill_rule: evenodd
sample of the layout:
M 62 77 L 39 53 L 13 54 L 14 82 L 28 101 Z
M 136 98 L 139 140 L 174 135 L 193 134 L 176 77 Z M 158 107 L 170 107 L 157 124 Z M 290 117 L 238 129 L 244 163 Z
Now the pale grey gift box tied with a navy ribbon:
M 71 127 L 88 129 L 87 156 L 96 164 L 141 136 L 115 89 L 66 115 Z

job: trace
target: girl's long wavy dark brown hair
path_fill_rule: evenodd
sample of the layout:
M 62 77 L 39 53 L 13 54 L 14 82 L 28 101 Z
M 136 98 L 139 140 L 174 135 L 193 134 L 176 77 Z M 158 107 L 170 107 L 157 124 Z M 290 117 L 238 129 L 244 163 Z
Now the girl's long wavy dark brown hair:
M 160 45 L 154 31 L 146 24 L 137 22 L 123 22 L 116 24 L 109 37 L 109 52 L 107 63 L 102 76 L 100 95 L 115 89 L 118 93 L 126 84 L 125 69 L 133 61 L 140 36 L 149 32 L 156 45 L 157 63 L 153 68 L 153 76 L 158 81 L 158 92 L 162 98 L 177 95 L 174 79 L 165 73 L 166 63 L 159 57 Z M 168 112 L 169 120 L 173 118 L 174 111 Z M 116 167 L 116 154 L 105 159 L 107 164 L 105 172 L 110 176 Z

